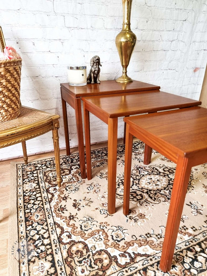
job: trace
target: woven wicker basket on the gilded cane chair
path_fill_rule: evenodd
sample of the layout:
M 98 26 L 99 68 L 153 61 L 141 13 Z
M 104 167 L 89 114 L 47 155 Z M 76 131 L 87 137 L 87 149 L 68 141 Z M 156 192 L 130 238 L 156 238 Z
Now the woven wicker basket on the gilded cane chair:
M 20 114 L 22 59 L 0 60 L 0 122 Z

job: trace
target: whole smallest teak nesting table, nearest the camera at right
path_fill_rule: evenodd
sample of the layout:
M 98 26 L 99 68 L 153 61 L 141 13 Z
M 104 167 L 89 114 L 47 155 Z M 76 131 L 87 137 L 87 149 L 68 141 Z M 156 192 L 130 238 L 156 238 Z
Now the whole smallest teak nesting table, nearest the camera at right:
M 123 212 L 129 213 L 133 135 L 145 143 L 144 163 L 151 149 L 177 164 L 167 217 L 160 269 L 171 268 L 191 167 L 207 162 L 207 109 L 191 107 L 124 118 L 126 146 Z

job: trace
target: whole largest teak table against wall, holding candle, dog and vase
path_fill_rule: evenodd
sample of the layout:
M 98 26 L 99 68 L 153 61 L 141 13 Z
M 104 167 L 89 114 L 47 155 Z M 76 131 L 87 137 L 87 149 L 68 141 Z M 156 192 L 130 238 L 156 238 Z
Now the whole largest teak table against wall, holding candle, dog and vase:
M 134 80 L 132 83 L 117 83 L 115 80 L 104 80 L 100 84 L 87 84 L 84 86 L 71 86 L 68 83 L 61 83 L 61 98 L 62 98 L 62 112 L 66 142 L 66 154 L 70 154 L 69 145 L 69 133 L 68 133 L 68 122 L 67 122 L 67 108 L 68 103 L 72 108 L 75 109 L 75 120 L 77 127 L 78 137 L 78 151 L 80 158 L 80 173 L 82 178 L 86 178 L 85 171 L 85 152 L 84 152 L 84 141 L 83 141 L 83 121 L 81 113 L 81 97 L 83 96 L 95 96 L 95 95 L 106 95 L 116 93 L 128 93 L 128 92 L 139 92 L 145 90 L 160 89 L 160 86 L 143 83 L 141 81 Z

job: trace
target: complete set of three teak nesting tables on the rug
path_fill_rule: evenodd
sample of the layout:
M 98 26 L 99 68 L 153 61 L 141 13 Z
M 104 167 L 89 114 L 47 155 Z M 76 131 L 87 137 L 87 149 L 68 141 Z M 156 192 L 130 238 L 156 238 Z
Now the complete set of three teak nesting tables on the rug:
M 75 109 L 82 178 L 86 177 L 86 172 L 81 100 L 84 110 L 88 179 L 91 179 L 89 112 L 108 124 L 108 212 L 110 214 L 116 211 L 118 117 L 125 117 L 126 124 L 123 202 L 125 215 L 129 213 L 133 135 L 145 143 L 144 164 L 150 163 L 152 149 L 177 164 L 160 261 L 161 270 L 166 272 L 171 268 L 191 167 L 207 162 L 207 110 L 198 107 L 200 101 L 162 92 L 159 89 L 159 86 L 138 81 L 123 84 L 102 81 L 101 84 L 80 87 L 61 84 L 67 154 L 70 151 L 66 102 Z M 144 115 L 129 117 L 136 114 Z

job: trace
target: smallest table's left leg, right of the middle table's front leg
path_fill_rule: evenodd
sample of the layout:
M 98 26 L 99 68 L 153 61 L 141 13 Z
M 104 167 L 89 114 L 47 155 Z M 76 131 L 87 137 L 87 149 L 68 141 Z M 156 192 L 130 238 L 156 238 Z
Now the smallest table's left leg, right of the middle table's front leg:
M 124 159 L 124 201 L 123 213 L 129 214 L 130 202 L 130 179 L 131 179 L 131 166 L 132 166 L 132 142 L 133 135 L 129 133 L 129 125 L 126 125 L 126 143 L 125 143 L 125 159 Z

